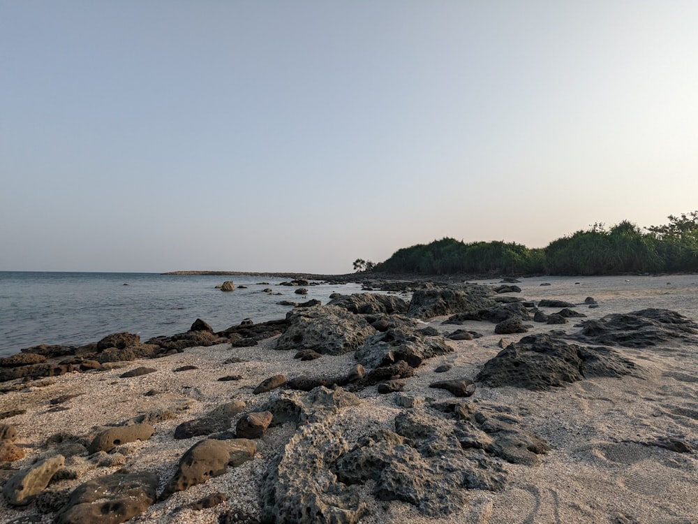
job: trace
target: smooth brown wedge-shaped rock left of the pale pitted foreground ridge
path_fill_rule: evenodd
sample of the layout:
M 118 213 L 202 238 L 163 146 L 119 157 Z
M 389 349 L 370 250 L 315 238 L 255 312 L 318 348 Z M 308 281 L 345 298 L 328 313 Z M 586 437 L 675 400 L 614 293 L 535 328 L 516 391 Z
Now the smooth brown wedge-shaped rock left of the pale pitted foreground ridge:
M 179 460 L 174 473 L 160 496 L 165 500 L 176 491 L 206 482 L 254 458 L 257 444 L 248 439 L 202 440 L 189 448 Z

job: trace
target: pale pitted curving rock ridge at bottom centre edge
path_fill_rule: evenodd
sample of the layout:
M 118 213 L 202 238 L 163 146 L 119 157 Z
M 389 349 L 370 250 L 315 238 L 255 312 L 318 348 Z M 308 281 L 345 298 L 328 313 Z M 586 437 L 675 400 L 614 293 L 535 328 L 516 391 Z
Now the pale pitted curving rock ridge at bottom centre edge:
M 366 504 L 329 470 L 346 451 L 339 430 L 322 423 L 302 426 L 262 479 L 262 522 L 356 524 Z

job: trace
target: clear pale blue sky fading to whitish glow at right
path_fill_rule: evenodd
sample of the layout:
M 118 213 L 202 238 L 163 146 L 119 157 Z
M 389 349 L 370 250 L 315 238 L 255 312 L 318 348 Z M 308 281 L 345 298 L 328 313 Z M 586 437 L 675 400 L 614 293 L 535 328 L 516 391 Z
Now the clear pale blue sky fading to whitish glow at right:
M 0 270 L 343 273 L 698 208 L 698 2 L 0 0 Z

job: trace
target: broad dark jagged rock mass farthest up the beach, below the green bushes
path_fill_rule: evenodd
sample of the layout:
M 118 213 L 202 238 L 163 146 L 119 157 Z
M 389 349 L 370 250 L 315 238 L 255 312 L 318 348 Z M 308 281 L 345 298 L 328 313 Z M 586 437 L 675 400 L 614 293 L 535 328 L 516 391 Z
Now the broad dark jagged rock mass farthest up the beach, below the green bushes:
M 408 316 L 431 319 L 461 311 L 481 310 L 494 305 L 491 289 L 468 284 L 461 289 L 429 288 L 413 293 Z

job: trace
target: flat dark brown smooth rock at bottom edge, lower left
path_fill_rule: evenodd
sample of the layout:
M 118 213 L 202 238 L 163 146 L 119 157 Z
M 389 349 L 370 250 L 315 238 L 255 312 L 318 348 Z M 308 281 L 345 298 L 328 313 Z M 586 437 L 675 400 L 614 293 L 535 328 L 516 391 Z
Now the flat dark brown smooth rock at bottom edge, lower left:
M 158 476 L 117 473 L 81 484 L 57 516 L 57 524 L 118 524 L 140 515 L 156 500 Z

